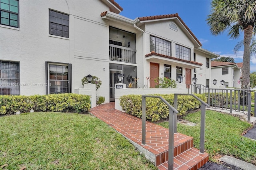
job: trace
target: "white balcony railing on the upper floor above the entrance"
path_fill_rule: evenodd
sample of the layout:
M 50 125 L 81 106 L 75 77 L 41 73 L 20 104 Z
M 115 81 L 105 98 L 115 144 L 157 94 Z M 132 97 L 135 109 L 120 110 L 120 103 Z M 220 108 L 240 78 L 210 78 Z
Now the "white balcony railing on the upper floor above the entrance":
M 109 59 L 126 63 L 136 63 L 136 49 L 109 44 Z

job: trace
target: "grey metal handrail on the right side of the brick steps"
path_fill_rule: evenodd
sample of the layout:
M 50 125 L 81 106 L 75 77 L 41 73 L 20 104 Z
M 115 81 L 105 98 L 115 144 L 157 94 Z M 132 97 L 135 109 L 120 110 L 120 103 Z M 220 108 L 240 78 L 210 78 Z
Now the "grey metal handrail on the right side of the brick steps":
M 189 95 L 189 96 L 193 96 L 194 98 L 196 98 L 198 101 L 201 102 L 201 124 L 200 124 L 200 153 L 204 153 L 204 137 L 205 137 L 205 107 L 210 107 L 210 105 L 208 105 L 207 103 L 205 103 L 204 101 L 202 101 L 201 99 L 199 99 L 196 95 L 194 94 L 183 94 L 183 93 L 175 93 L 174 94 L 174 108 L 177 109 L 178 108 L 178 95 Z M 177 117 L 176 117 L 177 120 Z M 175 122 L 174 125 L 175 130 L 174 132 L 177 132 L 177 121 Z

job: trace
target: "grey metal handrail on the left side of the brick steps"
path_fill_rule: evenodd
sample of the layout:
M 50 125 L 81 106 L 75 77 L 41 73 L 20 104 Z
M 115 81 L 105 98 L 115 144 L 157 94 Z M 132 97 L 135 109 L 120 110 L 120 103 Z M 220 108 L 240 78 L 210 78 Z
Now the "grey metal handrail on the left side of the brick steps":
M 168 170 L 173 170 L 174 159 L 174 125 L 175 115 L 178 111 L 174 109 L 164 98 L 161 96 L 142 95 L 142 144 L 146 144 L 146 97 L 153 97 L 161 99 L 169 107 L 169 151 L 168 151 Z

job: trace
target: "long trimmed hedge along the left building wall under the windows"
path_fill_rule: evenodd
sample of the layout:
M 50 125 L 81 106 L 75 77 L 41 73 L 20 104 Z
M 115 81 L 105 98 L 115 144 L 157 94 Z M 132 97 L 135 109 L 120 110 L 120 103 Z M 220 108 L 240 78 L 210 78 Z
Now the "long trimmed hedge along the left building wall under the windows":
M 0 96 L 0 114 L 14 115 L 34 111 L 62 111 L 87 113 L 90 110 L 90 97 L 73 93 L 33 95 L 33 96 Z

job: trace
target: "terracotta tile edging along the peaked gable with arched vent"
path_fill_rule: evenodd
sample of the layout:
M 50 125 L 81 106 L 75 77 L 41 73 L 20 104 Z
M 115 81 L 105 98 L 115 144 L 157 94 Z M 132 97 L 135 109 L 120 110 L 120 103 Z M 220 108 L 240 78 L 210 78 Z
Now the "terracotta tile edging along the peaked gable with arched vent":
M 184 25 L 184 27 L 188 30 L 188 32 L 192 35 L 192 37 L 196 40 L 196 42 L 198 42 L 198 44 L 200 46 L 202 46 L 200 41 L 196 38 L 196 36 L 188 28 L 188 26 L 185 24 L 185 22 L 180 18 L 178 13 L 176 13 L 176 14 L 167 14 L 167 15 L 157 15 L 157 16 L 146 16 L 146 17 L 144 16 L 144 17 L 139 17 L 138 19 L 140 21 L 146 21 L 146 20 L 157 20 L 157 19 L 162 19 L 162 18 L 173 18 L 173 17 L 177 17 L 180 20 L 180 22 Z

